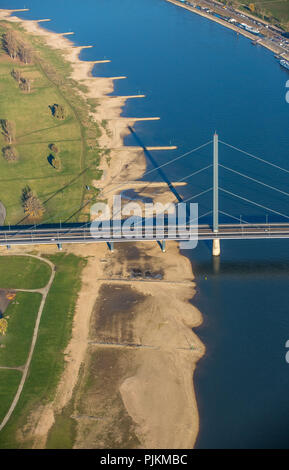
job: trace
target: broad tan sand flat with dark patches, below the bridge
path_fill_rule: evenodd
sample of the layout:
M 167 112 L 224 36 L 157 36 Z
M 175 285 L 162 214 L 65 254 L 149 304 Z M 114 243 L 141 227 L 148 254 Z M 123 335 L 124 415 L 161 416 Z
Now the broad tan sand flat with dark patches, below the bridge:
M 201 315 L 188 302 L 194 295 L 190 263 L 180 257 L 177 244 L 169 244 L 169 259 L 152 243 L 118 246 L 105 258 L 107 277 L 121 271 L 127 280 L 112 284 L 99 279 L 90 346 L 75 400 L 75 414 L 93 416 L 95 424 L 78 422 L 75 447 L 108 445 L 108 434 L 112 446 L 120 442 L 136 448 L 192 447 L 198 431 L 192 375 L 204 348 L 191 330 Z M 165 282 L 129 279 L 132 271 L 144 276 L 149 270 Z M 174 284 L 175 279 L 184 284 Z M 99 376 L 102 382 L 97 384 Z M 117 401 L 119 392 L 123 404 Z M 103 407 L 107 403 L 108 409 Z

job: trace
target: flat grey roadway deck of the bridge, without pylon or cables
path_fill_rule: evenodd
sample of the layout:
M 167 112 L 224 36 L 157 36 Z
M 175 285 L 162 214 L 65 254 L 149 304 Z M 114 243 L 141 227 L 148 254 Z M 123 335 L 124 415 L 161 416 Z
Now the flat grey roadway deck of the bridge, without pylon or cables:
M 158 229 L 160 229 L 158 227 Z M 36 227 L 10 230 L 5 227 L 0 229 L 0 245 L 38 245 L 38 244 L 63 244 L 63 243 L 99 243 L 99 242 L 134 242 L 134 241 L 163 241 L 189 239 L 188 234 L 181 234 L 180 227 L 176 235 L 169 233 L 168 226 L 164 227 L 164 234 L 160 235 L 154 227 L 149 237 L 144 237 L 144 227 L 138 237 L 127 238 L 123 235 L 112 237 L 109 231 L 104 232 L 102 238 L 94 238 L 89 225 L 75 224 L 75 226 Z M 247 240 L 247 239 L 289 238 L 289 223 L 284 224 L 220 224 L 219 232 L 214 233 L 210 225 L 198 226 L 199 240 Z

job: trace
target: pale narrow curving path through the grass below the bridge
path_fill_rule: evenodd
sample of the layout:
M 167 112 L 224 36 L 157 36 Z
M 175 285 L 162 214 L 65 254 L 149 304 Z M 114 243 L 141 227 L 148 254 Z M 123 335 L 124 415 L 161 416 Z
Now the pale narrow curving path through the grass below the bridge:
M 13 254 L 13 256 L 17 256 L 17 254 Z M 43 289 L 39 289 L 39 290 L 27 290 L 25 291 L 24 289 L 22 289 L 21 291 L 23 292 L 39 292 L 40 294 L 42 294 L 42 300 L 41 300 L 41 303 L 40 303 L 40 306 L 39 306 L 39 309 L 38 309 L 38 314 L 37 314 L 37 318 L 36 318 L 36 322 L 35 322 L 35 327 L 34 327 L 34 331 L 33 331 L 33 337 L 32 337 L 32 342 L 31 342 L 31 346 L 30 346 L 30 350 L 29 350 L 29 354 L 28 354 L 28 358 L 27 358 L 27 361 L 26 361 L 26 364 L 23 368 L 23 374 L 22 374 L 22 377 L 21 377 L 21 381 L 20 381 L 20 384 L 18 386 L 18 389 L 17 389 L 17 392 L 13 398 L 13 401 L 11 403 L 11 406 L 6 414 L 6 416 L 4 417 L 2 423 L 0 424 L 0 431 L 2 431 L 2 429 L 4 428 L 4 426 L 6 426 L 6 424 L 8 423 L 9 419 L 11 418 L 11 415 L 19 401 L 19 398 L 20 398 L 20 395 L 22 393 L 22 390 L 23 390 L 23 387 L 25 385 L 25 382 L 26 382 L 26 378 L 27 378 L 27 374 L 28 374 L 28 371 L 29 371 L 29 367 L 30 367 L 30 364 L 31 364 L 31 360 L 32 360 L 32 357 L 33 357 L 33 353 L 34 353 L 34 349 L 35 349 L 35 345 L 36 345 L 36 341 L 37 341 L 37 337 L 38 337 L 38 331 L 39 331 L 39 325 L 40 325 L 40 320 L 41 320 L 41 316 L 42 316 L 42 312 L 43 312 L 43 308 L 44 308 L 44 305 L 45 305 L 45 302 L 46 302 L 46 298 L 47 298 L 47 295 L 48 295 L 48 292 L 50 290 L 50 287 L 53 283 L 53 280 L 54 280 L 54 276 L 55 276 L 55 271 L 54 271 L 54 264 L 51 263 L 51 261 L 45 259 L 45 258 L 41 258 L 40 256 L 36 256 L 36 255 L 28 255 L 28 254 L 22 254 L 21 256 L 30 256 L 32 258 L 36 258 L 36 259 L 39 259 L 40 261 L 48 264 L 51 268 L 51 276 L 50 276 L 50 279 L 48 281 L 48 284 L 43 288 Z M 19 290 L 19 289 L 17 289 Z

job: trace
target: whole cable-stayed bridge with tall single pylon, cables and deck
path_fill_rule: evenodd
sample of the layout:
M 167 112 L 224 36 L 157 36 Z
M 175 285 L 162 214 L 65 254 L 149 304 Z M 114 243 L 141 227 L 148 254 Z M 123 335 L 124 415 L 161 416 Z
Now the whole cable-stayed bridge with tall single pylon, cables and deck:
M 140 143 L 140 141 L 139 141 Z M 186 158 L 198 150 L 205 148 L 213 144 L 212 152 L 212 163 L 206 165 L 198 170 L 195 170 L 193 173 L 186 175 L 185 177 L 178 180 L 178 182 L 188 181 L 191 178 L 199 175 L 200 173 L 206 172 L 209 169 L 213 170 L 213 181 L 212 186 L 202 190 L 198 194 L 195 194 L 187 199 L 182 199 L 176 192 L 173 183 L 171 183 L 165 174 L 165 169 L 169 165 L 173 165 L 177 161 Z M 0 228 L 0 245 L 6 245 L 11 247 L 13 245 L 34 245 L 34 244 L 57 244 L 59 248 L 62 247 L 64 243 L 99 243 L 106 242 L 111 249 L 113 249 L 114 242 L 137 242 L 137 241 L 152 241 L 155 240 L 159 242 L 162 246 L 163 251 L 165 251 L 165 242 L 166 240 L 176 240 L 176 241 L 187 241 L 192 238 L 192 227 L 193 227 L 193 237 L 196 237 L 199 240 L 213 240 L 213 254 L 220 254 L 220 240 L 241 240 L 241 239 L 281 239 L 289 238 L 289 214 L 284 213 L 283 211 L 276 210 L 276 208 L 270 207 L 269 205 L 262 204 L 261 202 L 254 201 L 245 197 L 240 193 L 235 193 L 232 190 L 229 190 L 226 187 L 220 186 L 219 184 L 219 169 L 225 170 L 226 172 L 238 175 L 241 178 L 249 182 L 249 184 L 256 184 L 262 188 L 267 188 L 270 191 L 282 196 L 289 197 L 289 193 L 285 190 L 267 184 L 265 181 L 262 181 L 258 178 L 250 176 L 244 170 L 237 171 L 224 165 L 219 162 L 219 144 L 226 146 L 230 149 L 240 152 L 243 156 L 254 159 L 258 164 L 267 166 L 268 168 L 274 169 L 280 174 L 287 175 L 289 170 L 261 158 L 260 156 L 249 153 L 245 150 L 242 150 L 238 147 L 235 147 L 224 141 L 219 141 L 218 135 L 215 133 L 213 140 L 206 142 L 203 145 L 200 145 L 182 155 L 179 155 L 167 162 L 157 165 L 153 159 L 153 168 L 145 172 L 143 177 L 148 176 L 153 172 L 158 172 L 158 175 L 167 183 L 169 189 L 176 196 L 178 202 L 189 203 L 189 202 L 198 202 L 200 197 L 205 194 L 211 194 L 211 210 L 206 213 L 199 215 L 198 220 L 188 220 L 185 224 L 178 224 L 176 221 L 176 226 L 172 227 L 171 224 L 167 223 L 164 219 L 163 225 L 155 225 L 151 222 L 149 234 L 147 232 L 147 226 L 144 219 L 140 219 L 137 223 L 138 230 L 133 231 L 131 236 L 127 233 L 124 234 L 122 231 L 113 232 L 113 221 L 110 221 L 105 225 L 106 228 L 102 230 L 101 237 L 95 236 L 93 230 L 91 230 L 90 223 L 75 223 L 75 224 L 48 224 L 42 223 L 41 225 L 33 226 L 14 226 L 14 227 L 1 227 Z M 141 144 L 142 146 L 142 144 Z M 148 149 L 142 146 L 146 154 L 148 154 Z M 150 156 L 150 155 L 147 155 Z M 145 183 L 149 186 L 149 182 Z M 250 204 L 253 207 L 262 209 L 266 212 L 266 222 L 256 223 L 249 220 L 246 220 L 246 216 L 236 217 L 233 214 L 225 212 L 222 208 L 219 207 L 219 195 L 220 193 L 225 194 L 226 196 L 234 199 L 236 201 L 245 202 Z M 273 214 L 276 218 L 280 219 L 280 222 L 269 222 L 269 214 Z M 232 222 L 220 223 L 220 215 L 226 216 L 228 220 Z M 211 217 L 211 223 L 201 223 L 201 220 L 204 218 Z M 134 227 L 135 228 L 135 227 Z M 172 229 L 175 230 L 172 230 Z M 197 231 L 197 234 L 196 234 Z

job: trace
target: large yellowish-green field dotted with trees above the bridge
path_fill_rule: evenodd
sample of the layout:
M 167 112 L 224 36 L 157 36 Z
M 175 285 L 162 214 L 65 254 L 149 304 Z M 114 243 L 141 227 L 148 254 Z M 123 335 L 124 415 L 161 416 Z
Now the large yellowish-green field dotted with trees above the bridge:
M 11 26 L 10 26 L 11 27 Z M 7 28 L 0 23 L 0 43 Z M 13 26 L 18 29 L 19 27 Z M 44 205 L 42 222 L 87 220 L 89 211 L 82 209 L 96 191 L 86 190 L 91 179 L 99 175 L 99 128 L 88 118 L 89 104 L 76 92 L 77 84 L 67 79 L 70 66 L 61 54 L 44 47 L 40 39 L 21 32 L 26 42 L 38 51 L 34 63 L 23 65 L 12 60 L 0 48 L 0 119 L 16 125 L 17 162 L 7 162 L 1 149 L 7 145 L 0 134 L 0 200 L 7 210 L 6 224 L 27 223 L 23 220 L 22 191 L 29 186 Z M 30 93 L 23 92 L 11 76 L 13 68 L 33 80 Z M 66 78 L 65 78 L 66 77 Z M 53 117 L 49 106 L 61 104 L 66 118 Z M 95 106 L 95 103 L 93 103 Z M 91 142 L 93 144 L 91 144 Z M 50 144 L 59 149 L 61 168 L 49 163 Z

